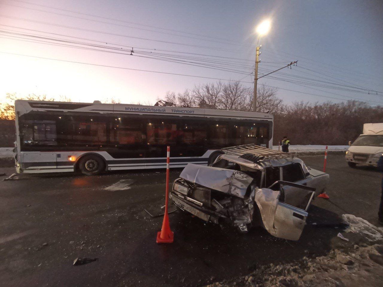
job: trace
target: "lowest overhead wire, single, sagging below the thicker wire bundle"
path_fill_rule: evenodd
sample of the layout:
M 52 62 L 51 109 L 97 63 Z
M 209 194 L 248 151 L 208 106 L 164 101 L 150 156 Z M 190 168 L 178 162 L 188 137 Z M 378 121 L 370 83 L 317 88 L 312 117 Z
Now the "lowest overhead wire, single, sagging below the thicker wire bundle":
M 170 72 L 162 72 L 162 71 L 141 70 L 141 69 L 134 69 L 134 68 L 119 67 L 119 66 L 100 65 L 100 64 L 77 62 L 77 61 L 70 61 L 70 60 L 61 60 L 61 59 L 47 58 L 47 57 L 38 57 L 38 56 L 16 54 L 16 53 L 9 53 L 9 52 L 0 52 L 0 53 L 8 54 L 8 55 L 23 56 L 23 57 L 39 58 L 39 59 L 45 59 L 45 60 L 54 60 L 54 61 L 67 62 L 67 63 L 77 63 L 77 64 L 101 66 L 101 67 L 107 67 L 107 68 L 118 68 L 118 69 L 123 69 L 123 70 L 144 71 L 144 72 L 150 72 L 150 73 L 160 73 L 160 74 L 166 74 L 166 75 L 187 76 L 187 77 L 193 77 L 193 78 L 215 79 L 215 80 L 221 80 L 221 81 L 237 81 L 237 80 L 231 80 L 231 79 L 213 78 L 213 77 L 205 77 L 205 76 L 197 76 L 197 75 L 187 75 L 187 74 L 170 73 Z M 240 82 L 241 83 L 252 83 L 252 82 L 246 82 L 246 81 L 240 81 Z M 323 95 L 318 95 L 318 94 L 312 94 L 312 93 L 308 93 L 308 92 L 295 91 L 295 90 L 291 90 L 291 89 L 285 89 L 285 88 L 280 88 L 280 87 L 275 87 L 275 86 L 269 86 L 269 85 L 266 85 L 266 84 L 265 84 L 265 86 L 269 87 L 269 88 L 276 88 L 276 89 L 281 89 L 281 90 L 285 90 L 285 91 L 298 92 L 298 93 L 301 93 L 301 94 L 307 94 L 307 95 L 313 95 L 313 96 L 318 96 L 318 97 L 324 97 L 324 98 L 328 98 L 328 99 L 336 99 L 336 100 L 340 100 L 340 101 L 349 101 L 349 99 L 340 99 L 340 98 L 337 98 L 337 97 L 329 97 L 329 96 L 323 96 Z M 355 100 L 355 101 L 357 101 L 357 100 Z M 370 102 L 370 101 L 357 101 L 357 102 Z M 380 104 L 383 104 L 383 103 L 380 103 Z

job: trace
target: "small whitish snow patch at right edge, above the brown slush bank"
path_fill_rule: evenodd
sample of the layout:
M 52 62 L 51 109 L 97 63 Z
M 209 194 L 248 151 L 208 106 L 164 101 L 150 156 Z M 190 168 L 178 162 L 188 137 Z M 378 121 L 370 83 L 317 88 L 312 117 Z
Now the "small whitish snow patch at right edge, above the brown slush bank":
M 356 217 L 352 214 L 343 214 L 342 219 L 345 223 L 349 224 L 349 227 L 345 232 L 358 233 L 363 235 L 369 241 L 383 239 L 383 228 L 376 227 L 363 218 Z

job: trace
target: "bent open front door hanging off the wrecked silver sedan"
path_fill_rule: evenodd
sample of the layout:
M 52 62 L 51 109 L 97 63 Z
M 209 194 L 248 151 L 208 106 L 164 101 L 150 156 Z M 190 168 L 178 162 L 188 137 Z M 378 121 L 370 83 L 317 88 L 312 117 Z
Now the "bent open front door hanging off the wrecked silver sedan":
M 315 194 L 315 188 L 292 182 L 279 180 L 280 191 L 260 188 L 255 192 L 257 203 L 265 229 L 273 236 L 288 240 L 298 240 L 301 237 L 308 208 Z M 306 208 L 301 209 L 283 202 L 283 186 L 293 186 L 311 191 Z

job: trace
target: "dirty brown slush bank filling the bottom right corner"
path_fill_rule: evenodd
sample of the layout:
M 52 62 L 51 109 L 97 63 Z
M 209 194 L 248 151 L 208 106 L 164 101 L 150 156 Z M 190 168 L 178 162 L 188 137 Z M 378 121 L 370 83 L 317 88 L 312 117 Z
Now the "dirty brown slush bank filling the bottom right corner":
M 299 262 L 263 266 L 233 281 L 205 287 L 375 287 L 383 282 L 383 245 L 359 247 L 349 252 L 331 250 L 328 255 Z

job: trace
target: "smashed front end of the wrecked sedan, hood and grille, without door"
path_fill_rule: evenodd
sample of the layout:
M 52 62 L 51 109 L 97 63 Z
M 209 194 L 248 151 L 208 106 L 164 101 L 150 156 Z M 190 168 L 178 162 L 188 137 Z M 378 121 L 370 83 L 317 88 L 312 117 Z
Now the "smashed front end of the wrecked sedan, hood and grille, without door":
M 205 221 L 226 222 L 246 231 L 254 213 L 253 181 L 236 170 L 188 164 L 175 180 L 170 198 Z

